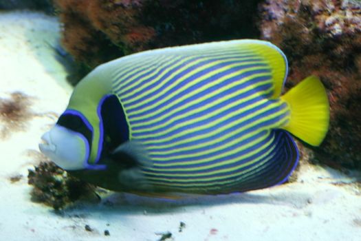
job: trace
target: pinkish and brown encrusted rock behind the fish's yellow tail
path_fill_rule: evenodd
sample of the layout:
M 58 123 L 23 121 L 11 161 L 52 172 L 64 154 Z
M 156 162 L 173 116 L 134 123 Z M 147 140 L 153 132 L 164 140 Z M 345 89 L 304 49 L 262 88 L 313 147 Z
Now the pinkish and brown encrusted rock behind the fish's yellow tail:
M 289 59 L 286 87 L 320 76 L 331 106 L 330 130 L 315 158 L 361 169 L 361 4 L 342 0 L 268 0 L 260 7 L 261 37 Z

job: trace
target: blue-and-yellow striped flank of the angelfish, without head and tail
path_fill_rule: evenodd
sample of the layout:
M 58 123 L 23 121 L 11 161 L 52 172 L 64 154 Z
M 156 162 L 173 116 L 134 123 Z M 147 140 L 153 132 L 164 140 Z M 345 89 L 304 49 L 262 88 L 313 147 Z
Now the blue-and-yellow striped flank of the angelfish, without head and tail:
M 289 108 L 274 98 L 287 61 L 273 45 L 207 43 L 133 54 L 113 65 L 113 94 L 130 140 L 153 162 L 142 172 L 155 189 L 248 191 L 283 182 L 294 169 L 296 145 L 278 129 Z

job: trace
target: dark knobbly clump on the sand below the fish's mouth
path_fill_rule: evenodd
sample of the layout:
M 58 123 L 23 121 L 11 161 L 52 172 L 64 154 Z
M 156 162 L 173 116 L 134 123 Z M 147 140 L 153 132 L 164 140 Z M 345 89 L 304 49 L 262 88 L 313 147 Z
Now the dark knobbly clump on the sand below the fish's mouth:
M 69 176 L 50 162 L 41 162 L 34 170 L 29 169 L 28 184 L 33 186 L 30 193 L 33 202 L 41 202 L 55 210 L 95 195 L 93 185 Z

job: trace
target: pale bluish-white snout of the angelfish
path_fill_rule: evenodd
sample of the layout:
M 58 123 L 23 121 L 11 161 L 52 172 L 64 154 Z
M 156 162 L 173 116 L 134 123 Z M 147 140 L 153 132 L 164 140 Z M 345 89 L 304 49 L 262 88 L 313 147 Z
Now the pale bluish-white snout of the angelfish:
M 56 165 L 65 170 L 84 169 L 89 157 L 89 144 L 85 136 L 71 129 L 55 125 L 42 137 L 39 149 Z

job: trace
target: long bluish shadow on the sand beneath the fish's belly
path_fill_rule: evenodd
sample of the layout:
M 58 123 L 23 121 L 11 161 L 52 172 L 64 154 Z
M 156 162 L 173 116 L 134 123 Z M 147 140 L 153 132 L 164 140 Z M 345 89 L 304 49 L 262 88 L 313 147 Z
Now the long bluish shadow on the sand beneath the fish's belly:
M 177 199 L 153 198 L 131 193 L 108 193 L 98 203 L 78 202 L 57 214 L 72 216 L 76 213 L 89 215 L 127 216 L 182 213 L 185 210 L 204 209 L 223 205 L 283 205 L 301 209 L 308 205 L 310 194 L 276 187 L 247 193 L 206 196 L 181 194 Z

